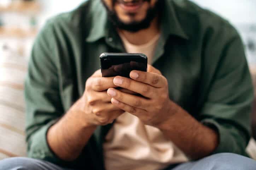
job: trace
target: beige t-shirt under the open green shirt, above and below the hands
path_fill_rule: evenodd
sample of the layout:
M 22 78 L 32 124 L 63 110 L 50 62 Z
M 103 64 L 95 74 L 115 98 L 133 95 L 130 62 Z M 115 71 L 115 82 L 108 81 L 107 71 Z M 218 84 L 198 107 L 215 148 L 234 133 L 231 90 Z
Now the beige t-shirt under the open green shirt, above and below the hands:
M 121 33 L 120 37 L 128 53 L 144 53 L 149 63 L 152 62 L 160 34 L 143 45 L 131 44 Z M 106 170 L 159 170 L 188 161 L 159 129 L 144 125 L 127 112 L 116 119 L 103 148 Z

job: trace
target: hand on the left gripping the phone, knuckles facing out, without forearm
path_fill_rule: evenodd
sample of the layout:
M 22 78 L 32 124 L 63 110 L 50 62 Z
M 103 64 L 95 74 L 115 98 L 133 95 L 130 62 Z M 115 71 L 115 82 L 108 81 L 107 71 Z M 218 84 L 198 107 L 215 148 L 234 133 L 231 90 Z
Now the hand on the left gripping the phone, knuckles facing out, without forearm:
M 87 79 L 85 92 L 71 110 L 79 110 L 84 114 L 86 126 L 107 125 L 124 113 L 111 103 L 111 97 L 107 95 L 107 89 L 117 87 L 113 83 L 114 77 L 102 77 L 97 70 Z

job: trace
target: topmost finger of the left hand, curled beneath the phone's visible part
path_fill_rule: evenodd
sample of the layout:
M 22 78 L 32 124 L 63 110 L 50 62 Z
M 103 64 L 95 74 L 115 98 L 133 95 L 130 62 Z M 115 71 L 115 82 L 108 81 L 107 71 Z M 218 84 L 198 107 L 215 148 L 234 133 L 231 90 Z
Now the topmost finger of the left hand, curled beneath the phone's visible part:
M 92 77 L 90 87 L 94 91 L 104 91 L 110 87 L 117 87 L 113 83 L 114 77 Z

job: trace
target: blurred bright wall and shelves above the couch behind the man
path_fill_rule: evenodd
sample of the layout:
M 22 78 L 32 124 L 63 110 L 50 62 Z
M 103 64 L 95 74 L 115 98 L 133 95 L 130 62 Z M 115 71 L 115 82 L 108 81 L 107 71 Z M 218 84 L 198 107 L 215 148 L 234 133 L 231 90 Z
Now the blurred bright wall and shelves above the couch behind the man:
M 29 56 L 31 44 L 45 20 L 72 10 L 84 0 L 0 0 L 0 56 L 2 53 Z M 192 0 L 231 22 L 246 45 L 250 64 L 256 64 L 255 0 Z M 13 54 L 12 54 L 13 55 Z

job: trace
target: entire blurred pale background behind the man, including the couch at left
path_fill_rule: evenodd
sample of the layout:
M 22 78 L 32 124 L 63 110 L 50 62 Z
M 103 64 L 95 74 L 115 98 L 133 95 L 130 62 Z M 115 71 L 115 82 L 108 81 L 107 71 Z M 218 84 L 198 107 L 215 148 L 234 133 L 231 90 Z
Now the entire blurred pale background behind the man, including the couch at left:
M 47 18 L 70 11 L 83 1 L 0 0 L 0 159 L 26 154 L 23 81 L 35 36 Z M 256 77 L 256 0 L 192 1 L 238 29 Z M 248 152 L 256 159 L 256 145 Z

